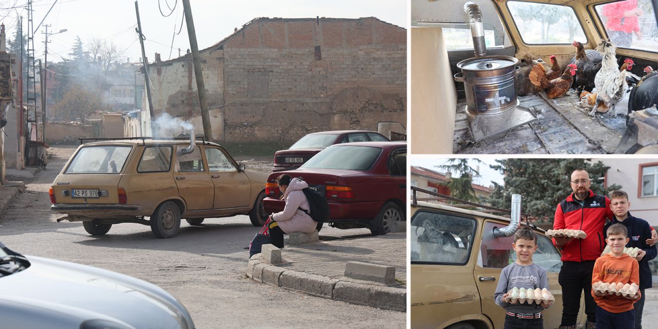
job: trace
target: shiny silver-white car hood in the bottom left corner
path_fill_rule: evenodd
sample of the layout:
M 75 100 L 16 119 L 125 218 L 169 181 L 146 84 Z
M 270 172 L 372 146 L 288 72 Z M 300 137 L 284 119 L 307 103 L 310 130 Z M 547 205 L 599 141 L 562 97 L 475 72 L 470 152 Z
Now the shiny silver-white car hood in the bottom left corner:
M 96 267 L 26 257 L 30 267 L 0 278 L 2 328 L 38 328 L 41 320 L 41 328 L 79 328 L 90 319 L 139 329 L 194 328 L 182 303 L 154 284 Z

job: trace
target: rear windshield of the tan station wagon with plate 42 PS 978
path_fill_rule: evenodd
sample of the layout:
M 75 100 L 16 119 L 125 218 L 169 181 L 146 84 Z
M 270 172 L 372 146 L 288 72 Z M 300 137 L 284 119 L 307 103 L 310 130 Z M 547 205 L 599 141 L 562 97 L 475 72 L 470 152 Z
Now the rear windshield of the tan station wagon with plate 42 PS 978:
M 81 148 L 64 173 L 120 173 L 131 146 L 89 146 Z

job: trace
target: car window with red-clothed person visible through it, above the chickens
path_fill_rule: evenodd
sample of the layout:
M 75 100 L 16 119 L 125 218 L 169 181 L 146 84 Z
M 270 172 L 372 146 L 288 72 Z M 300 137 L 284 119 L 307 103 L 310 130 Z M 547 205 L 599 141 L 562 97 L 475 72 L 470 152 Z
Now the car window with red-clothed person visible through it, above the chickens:
M 658 53 L 658 26 L 651 1 L 615 1 L 594 9 L 617 48 Z

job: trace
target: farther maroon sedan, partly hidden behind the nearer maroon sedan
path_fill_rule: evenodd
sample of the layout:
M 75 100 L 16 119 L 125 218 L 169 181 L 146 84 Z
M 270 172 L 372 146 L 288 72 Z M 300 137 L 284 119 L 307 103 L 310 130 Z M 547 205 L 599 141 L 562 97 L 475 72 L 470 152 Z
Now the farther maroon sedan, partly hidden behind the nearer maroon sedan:
M 388 139 L 375 131 L 363 130 L 335 130 L 310 133 L 301 137 L 288 150 L 276 151 L 274 153 L 274 168 L 272 168 L 272 171 L 297 169 L 315 156 L 315 154 L 318 154 L 318 152 L 332 144 L 368 141 L 386 142 Z

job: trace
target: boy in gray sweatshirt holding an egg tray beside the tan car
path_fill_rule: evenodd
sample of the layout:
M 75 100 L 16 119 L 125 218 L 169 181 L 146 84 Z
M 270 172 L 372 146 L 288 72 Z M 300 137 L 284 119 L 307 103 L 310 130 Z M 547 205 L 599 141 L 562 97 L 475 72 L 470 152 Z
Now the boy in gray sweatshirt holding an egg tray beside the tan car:
M 537 250 L 537 234 L 528 227 L 517 230 L 514 234 L 512 248 L 517 253 L 517 261 L 507 265 L 500 273 L 498 286 L 493 295 L 495 303 L 507 311 L 504 329 L 544 329 L 542 311 L 550 307 L 553 301 L 542 301 L 540 305 L 536 303 L 511 304 L 503 301 L 503 298 L 508 295 L 507 292 L 514 287 L 549 288 L 546 270 L 532 263 L 532 254 Z

